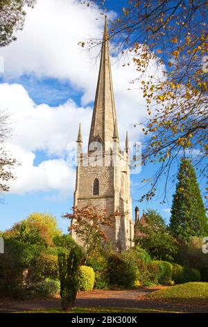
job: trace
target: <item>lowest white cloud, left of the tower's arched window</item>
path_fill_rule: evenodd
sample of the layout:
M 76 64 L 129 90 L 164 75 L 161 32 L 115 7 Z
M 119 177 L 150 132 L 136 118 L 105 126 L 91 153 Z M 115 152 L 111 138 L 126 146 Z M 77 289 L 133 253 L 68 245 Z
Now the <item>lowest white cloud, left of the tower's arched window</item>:
M 33 166 L 35 154 L 17 145 L 8 144 L 7 149 L 21 163 L 15 167 L 15 180 L 10 181 L 10 193 L 24 194 L 31 191 L 58 190 L 69 193 L 74 188 L 75 171 L 64 159 L 42 161 Z

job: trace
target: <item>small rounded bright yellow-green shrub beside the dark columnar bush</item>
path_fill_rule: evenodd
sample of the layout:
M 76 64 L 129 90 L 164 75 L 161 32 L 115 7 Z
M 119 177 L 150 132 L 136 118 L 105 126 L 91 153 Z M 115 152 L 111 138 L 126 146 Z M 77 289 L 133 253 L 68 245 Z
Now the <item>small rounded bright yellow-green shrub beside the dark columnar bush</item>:
M 92 267 L 79 267 L 79 289 L 81 291 L 91 291 L 94 287 L 95 273 Z

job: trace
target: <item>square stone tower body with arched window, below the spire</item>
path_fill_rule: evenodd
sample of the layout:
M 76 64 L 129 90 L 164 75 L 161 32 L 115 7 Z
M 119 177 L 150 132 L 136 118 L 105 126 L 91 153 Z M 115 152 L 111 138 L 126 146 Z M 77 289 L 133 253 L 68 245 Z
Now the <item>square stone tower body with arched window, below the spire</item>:
M 91 158 L 90 163 L 89 154 L 83 154 L 83 159 L 77 168 L 74 205 L 80 209 L 91 206 L 98 210 L 106 209 L 108 214 L 119 210 L 121 217 L 115 218 L 114 227 L 107 230 L 107 236 L 112 243 L 112 248 L 121 251 L 133 246 L 134 234 L 128 156 L 117 150 L 114 163 L 111 158 L 112 166 L 107 167 L 101 165 L 101 161 L 105 158 L 103 154 L 96 156 L 96 160 Z M 96 178 L 99 181 L 98 196 L 93 195 Z M 75 232 L 72 236 L 80 243 Z

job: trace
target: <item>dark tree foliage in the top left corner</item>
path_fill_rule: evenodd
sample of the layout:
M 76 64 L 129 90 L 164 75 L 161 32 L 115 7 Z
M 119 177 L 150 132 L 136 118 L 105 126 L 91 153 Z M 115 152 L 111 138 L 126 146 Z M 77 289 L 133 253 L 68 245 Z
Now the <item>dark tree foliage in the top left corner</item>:
M 33 7 L 36 0 L 0 0 L 0 47 L 17 38 L 14 31 L 23 29 L 26 6 Z

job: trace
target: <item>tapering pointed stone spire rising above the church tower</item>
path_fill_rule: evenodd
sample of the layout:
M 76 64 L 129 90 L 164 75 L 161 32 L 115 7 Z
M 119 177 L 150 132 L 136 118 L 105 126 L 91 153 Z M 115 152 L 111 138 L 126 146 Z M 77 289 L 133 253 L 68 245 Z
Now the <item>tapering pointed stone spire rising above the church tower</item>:
M 114 104 L 114 91 L 110 66 L 107 18 L 105 16 L 101 64 L 89 134 L 89 145 L 93 142 L 101 142 L 103 143 L 103 149 L 107 150 L 107 145 L 111 146 L 112 144 L 115 129 L 117 130 L 116 109 Z M 90 147 L 90 150 L 92 150 L 92 147 Z

